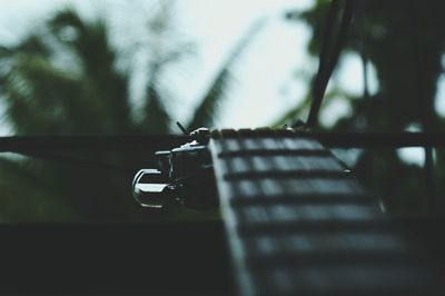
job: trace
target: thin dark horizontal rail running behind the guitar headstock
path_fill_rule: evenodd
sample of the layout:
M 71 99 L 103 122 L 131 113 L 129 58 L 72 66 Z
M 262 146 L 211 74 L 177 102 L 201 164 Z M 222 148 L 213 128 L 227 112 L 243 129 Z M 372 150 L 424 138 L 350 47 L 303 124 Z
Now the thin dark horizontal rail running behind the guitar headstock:
M 314 137 L 332 148 L 445 147 L 445 132 L 291 132 L 287 135 Z M 189 136 L 182 135 L 10 136 L 0 137 L 0 152 L 140 151 L 169 149 L 190 140 Z

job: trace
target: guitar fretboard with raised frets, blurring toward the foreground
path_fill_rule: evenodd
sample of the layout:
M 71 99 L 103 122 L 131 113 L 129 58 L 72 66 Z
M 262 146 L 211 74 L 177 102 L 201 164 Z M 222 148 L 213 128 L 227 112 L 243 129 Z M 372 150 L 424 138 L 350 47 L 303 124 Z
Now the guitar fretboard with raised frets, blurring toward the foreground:
M 221 130 L 210 150 L 241 295 L 442 295 L 427 256 L 317 140 Z

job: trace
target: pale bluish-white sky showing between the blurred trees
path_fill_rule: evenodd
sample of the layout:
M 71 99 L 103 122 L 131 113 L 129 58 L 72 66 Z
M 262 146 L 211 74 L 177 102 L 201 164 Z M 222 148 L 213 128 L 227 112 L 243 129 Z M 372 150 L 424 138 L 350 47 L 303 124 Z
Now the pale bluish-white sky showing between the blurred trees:
M 51 12 L 70 6 L 87 18 L 105 14 L 112 32 L 118 37 L 125 36 L 123 43 L 131 45 L 144 36 L 145 21 L 154 10 L 152 2 L 1 0 L 0 40 L 13 42 L 30 27 L 41 26 L 42 19 Z M 307 91 L 307 81 L 296 73 L 315 73 L 317 62 L 306 52 L 310 38 L 308 28 L 301 22 L 286 20 L 284 13 L 305 10 L 312 4 L 313 0 L 177 0 L 172 26 L 181 38 L 194 43 L 195 51 L 188 62 L 166 73 L 168 83 L 175 86 L 170 90 L 175 98 L 171 110 L 177 119 L 189 119 L 194 106 L 199 102 L 225 59 L 258 20 L 263 20 L 264 24 L 234 66 L 234 79 L 215 127 L 270 125 L 300 101 Z M 359 58 L 345 57 L 343 63 L 347 67 L 342 67 L 336 82 L 352 93 L 359 93 L 363 89 Z M 131 89 L 135 108 L 142 92 L 139 80 L 136 73 Z M 372 89 L 376 89 L 373 75 L 372 81 Z M 329 109 L 323 116 L 325 124 L 334 124 L 336 118 L 349 111 L 340 100 L 332 103 Z

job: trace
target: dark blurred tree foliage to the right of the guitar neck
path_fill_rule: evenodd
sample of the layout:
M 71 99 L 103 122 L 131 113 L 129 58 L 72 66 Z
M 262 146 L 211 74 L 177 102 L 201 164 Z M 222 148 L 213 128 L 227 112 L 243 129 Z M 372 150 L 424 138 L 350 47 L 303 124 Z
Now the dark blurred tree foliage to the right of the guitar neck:
M 312 55 L 320 52 L 324 22 L 332 1 L 317 0 L 312 9 L 289 12 L 287 17 L 304 20 L 313 30 L 308 45 Z M 343 1 L 342 1 L 343 2 Z M 437 79 L 443 72 L 445 18 L 444 1 L 370 1 L 357 0 L 355 17 L 344 55 L 357 53 L 364 67 L 374 65 L 379 89 L 369 95 L 347 96 L 337 87 L 325 96 L 324 103 L 335 96 L 348 99 L 352 112 L 334 127 L 337 131 L 403 131 L 419 127 L 439 131 L 444 118 L 434 108 Z M 366 68 L 365 68 L 366 69 Z M 310 106 L 310 93 L 284 120 L 301 117 Z M 323 107 L 322 107 L 323 108 Z M 444 151 L 436 150 L 435 182 L 426 186 L 425 171 L 404 162 L 395 150 L 362 151 L 355 171 L 363 184 L 383 197 L 395 214 L 439 213 L 445 193 Z

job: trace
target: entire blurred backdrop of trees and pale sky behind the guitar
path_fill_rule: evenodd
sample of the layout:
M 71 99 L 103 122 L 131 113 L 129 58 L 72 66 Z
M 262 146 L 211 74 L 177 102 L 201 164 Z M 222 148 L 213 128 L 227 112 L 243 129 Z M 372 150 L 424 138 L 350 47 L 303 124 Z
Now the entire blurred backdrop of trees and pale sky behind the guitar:
M 159 135 L 306 120 L 325 0 L 2 0 L 0 136 Z M 441 131 L 442 1 L 356 1 L 319 129 Z M 336 149 L 387 211 L 441 213 L 445 155 Z M 178 221 L 217 211 L 142 211 L 119 167 L 149 154 L 82 152 L 103 166 L 0 155 L 1 221 Z M 135 171 L 136 172 L 136 171 Z M 432 203 L 434 200 L 434 203 Z

